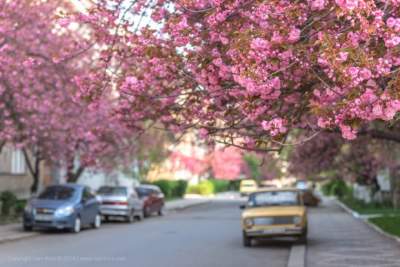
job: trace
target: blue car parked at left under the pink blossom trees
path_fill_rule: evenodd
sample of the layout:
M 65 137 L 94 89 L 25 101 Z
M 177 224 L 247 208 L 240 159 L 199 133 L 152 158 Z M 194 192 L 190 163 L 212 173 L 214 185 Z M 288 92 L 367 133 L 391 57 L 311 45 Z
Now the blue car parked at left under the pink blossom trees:
M 83 185 L 64 184 L 47 187 L 25 207 L 23 227 L 67 229 L 78 233 L 85 226 L 99 228 L 99 203 L 90 189 Z

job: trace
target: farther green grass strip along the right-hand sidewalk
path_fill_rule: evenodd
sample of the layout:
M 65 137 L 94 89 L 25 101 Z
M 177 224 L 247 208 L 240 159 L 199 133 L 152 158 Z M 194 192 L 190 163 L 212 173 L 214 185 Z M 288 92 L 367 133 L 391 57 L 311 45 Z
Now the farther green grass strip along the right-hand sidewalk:
M 359 214 L 394 214 L 400 216 L 400 209 L 394 209 L 390 203 L 364 203 L 352 197 L 345 197 L 340 199 L 340 201 Z

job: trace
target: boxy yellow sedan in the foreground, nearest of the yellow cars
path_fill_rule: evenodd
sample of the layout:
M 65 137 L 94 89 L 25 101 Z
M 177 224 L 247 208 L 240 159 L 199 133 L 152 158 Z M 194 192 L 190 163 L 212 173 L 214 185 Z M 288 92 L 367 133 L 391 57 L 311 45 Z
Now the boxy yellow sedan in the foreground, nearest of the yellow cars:
M 307 210 L 298 189 L 262 189 L 250 194 L 241 208 L 244 246 L 269 237 L 292 236 L 307 242 Z

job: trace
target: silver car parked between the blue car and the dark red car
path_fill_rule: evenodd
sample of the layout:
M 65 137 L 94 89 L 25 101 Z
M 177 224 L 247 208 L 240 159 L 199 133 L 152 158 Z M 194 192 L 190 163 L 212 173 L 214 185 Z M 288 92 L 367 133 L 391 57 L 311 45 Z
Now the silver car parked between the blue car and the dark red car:
M 97 191 L 100 213 L 106 221 L 111 217 L 123 217 L 127 222 L 143 218 L 143 201 L 128 186 L 102 186 Z

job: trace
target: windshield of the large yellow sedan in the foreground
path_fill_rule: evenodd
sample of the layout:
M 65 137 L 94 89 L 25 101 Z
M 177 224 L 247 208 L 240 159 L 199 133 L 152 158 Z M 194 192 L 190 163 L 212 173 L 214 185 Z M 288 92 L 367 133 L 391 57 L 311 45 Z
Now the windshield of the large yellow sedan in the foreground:
M 250 195 L 249 206 L 299 205 L 299 194 L 295 191 L 259 192 Z

